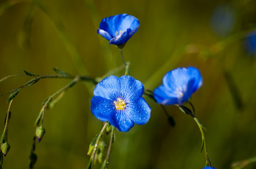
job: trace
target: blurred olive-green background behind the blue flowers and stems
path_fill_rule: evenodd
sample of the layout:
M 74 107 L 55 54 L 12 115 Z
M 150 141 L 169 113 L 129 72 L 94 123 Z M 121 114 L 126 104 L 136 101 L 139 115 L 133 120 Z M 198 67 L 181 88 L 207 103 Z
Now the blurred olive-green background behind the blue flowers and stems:
M 96 30 L 102 18 L 120 13 L 140 21 L 123 54 L 131 62 L 131 76 L 146 89 L 162 84 L 162 77 L 173 68 L 192 65 L 201 71 L 204 84 L 192 102 L 207 129 L 212 165 L 226 169 L 232 162 L 255 157 L 256 58 L 246 53 L 243 43 L 246 33 L 256 28 L 253 0 L 1 1 L 0 78 L 23 70 L 54 74 L 55 67 L 73 75 L 103 76 L 122 65 L 122 60 L 118 48 L 108 45 Z M 8 79 L 0 93 L 30 79 Z M 3 168 L 28 168 L 41 103 L 68 83 L 67 79 L 44 79 L 16 96 L 8 127 L 11 149 Z M 103 126 L 90 112 L 93 89 L 79 82 L 46 111 L 46 134 L 36 146 L 35 168 L 86 168 L 89 143 Z M 1 131 L 7 98 L 0 97 Z M 145 99 L 152 108 L 150 121 L 126 133 L 116 132 L 108 167 L 203 168 L 201 134 L 193 119 L 177 107 L 166 107 L 176 121 L 172 128 L 161 107 Z

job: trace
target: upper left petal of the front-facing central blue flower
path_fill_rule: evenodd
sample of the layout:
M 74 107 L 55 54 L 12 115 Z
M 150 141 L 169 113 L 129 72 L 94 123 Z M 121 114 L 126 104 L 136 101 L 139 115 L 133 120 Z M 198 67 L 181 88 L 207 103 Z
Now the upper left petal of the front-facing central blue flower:
M 117 76 L 108 76 L 94 88 L 94 96 L 115 100 L 120 95 L 120 80 Z

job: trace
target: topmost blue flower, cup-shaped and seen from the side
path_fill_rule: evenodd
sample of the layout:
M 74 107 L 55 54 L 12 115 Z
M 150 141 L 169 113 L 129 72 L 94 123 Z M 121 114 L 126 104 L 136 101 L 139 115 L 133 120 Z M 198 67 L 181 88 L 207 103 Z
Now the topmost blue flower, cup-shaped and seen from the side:
M 119 14 L 103 18 L 97 34 L 102 35 L 109 44 L 124 46 L 139 29 L 139 20 L 132 15 Z

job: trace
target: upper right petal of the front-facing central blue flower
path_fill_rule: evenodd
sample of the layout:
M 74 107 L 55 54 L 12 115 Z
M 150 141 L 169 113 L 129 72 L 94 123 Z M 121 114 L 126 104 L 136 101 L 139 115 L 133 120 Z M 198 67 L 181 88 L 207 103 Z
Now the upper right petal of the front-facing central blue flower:
M 120 93 L 123 100 L 126 102 L 135 101 L 141 98 L 144 92 L 142 82 L 134 79 L 132 76 L 121 76 L 120 80 Z

